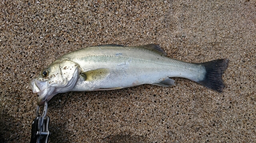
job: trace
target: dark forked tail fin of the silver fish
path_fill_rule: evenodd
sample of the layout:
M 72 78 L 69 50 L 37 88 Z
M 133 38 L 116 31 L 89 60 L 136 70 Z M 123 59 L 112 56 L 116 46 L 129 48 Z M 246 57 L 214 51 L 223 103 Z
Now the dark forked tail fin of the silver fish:
M 209 89 L 222 92 L 225 88 L 222 80 L 222 74 L 228 66 L 228 59 L 209 61 L 206 63 L 200 63 L 200 65 L 205 67 L 206 73 L 204 78 L 197 82 Z

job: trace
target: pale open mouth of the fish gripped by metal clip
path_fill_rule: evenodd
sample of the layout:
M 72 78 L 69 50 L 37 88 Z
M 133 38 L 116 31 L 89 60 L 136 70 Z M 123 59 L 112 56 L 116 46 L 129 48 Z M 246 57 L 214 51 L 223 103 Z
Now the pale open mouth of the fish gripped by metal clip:
M 53 94 L 55 88 L 49 87 L 49 85 L 47 84 L 47 81 L 32 79 L 30 80 L 30 86 L 33 93 L 38 94 L 37 104 L 39 106 L 44 105 L 46 100 L 49 101 L 54 95 L 56 95 L 56 94 Z

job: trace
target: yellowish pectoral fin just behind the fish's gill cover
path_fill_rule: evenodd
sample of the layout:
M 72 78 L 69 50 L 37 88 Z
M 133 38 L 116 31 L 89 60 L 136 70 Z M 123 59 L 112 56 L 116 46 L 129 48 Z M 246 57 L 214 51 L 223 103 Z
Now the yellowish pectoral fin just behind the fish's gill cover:
M 109 74 L 110 74 L 110 69 L 107 69 L 107 68 L 101 68 L 101 69 L 96 69 L 96 70 L 91 70 L 91 71 L 86 71 L 86 72 L 80 73 L 80 75 L 86 81 L 102 80 Z

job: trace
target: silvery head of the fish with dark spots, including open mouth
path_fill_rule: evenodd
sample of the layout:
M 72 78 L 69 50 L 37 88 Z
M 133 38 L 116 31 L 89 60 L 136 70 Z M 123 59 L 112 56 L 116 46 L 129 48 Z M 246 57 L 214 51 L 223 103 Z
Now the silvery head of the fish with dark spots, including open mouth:
M 33 93 L 38 94 L 37 104 L 43 105 L 58 93 L 71 91 L 80 73 L 77 63 L 69 60 L 57 60 L 30 81 Z

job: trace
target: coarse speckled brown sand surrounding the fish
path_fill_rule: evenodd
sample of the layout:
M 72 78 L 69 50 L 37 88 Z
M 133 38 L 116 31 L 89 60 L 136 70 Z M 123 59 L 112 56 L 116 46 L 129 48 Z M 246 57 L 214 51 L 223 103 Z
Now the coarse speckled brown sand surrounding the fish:
M 0 3 L 0 142 L 29 142 L 29 80 L 59 56 L 100 44 L 159 44 L 186 62 L 229 59 L 218 93 L 183 78 L 49 101 L 49 142 L 256 142 L 255 1 Z

